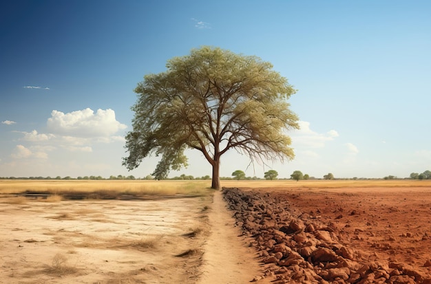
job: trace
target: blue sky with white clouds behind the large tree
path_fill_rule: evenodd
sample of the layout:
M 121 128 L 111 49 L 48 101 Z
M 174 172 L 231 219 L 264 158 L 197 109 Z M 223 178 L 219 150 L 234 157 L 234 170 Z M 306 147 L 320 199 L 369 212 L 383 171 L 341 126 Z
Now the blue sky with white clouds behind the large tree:
M 295 159 L 220 175 L 408 177 L 431 169 L 431 2 L 399 0 L 0 3 L 0 177 L 152 173 L 121 165 L 136 85 L 202 45 L 269 61 L 297 89 Z M 189 167 L 211 175 L 197 151 Z

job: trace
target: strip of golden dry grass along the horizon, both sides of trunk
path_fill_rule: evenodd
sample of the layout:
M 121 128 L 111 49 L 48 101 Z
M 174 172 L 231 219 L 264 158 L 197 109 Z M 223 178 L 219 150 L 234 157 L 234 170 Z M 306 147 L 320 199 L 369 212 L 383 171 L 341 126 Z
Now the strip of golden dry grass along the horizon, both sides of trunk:
M 431 180 L 413 179 L 368 179 L 368 180 L 222 180 L 224 187 L 239 188 L 401 188 L 431 187 Z M 98 199 L 103 195 L 204 195 L 209 193 L 211 181 L 205 180 L 0 180 L 0 195 L 34 192 L 49 193 L 52 196 L 38 201 L 61 201 L 65 193 L 94 193 Z M 9 197 L 8 203 L 23 204 L 25 197 Z M 3 199 L 3 201 L 6 201 Z

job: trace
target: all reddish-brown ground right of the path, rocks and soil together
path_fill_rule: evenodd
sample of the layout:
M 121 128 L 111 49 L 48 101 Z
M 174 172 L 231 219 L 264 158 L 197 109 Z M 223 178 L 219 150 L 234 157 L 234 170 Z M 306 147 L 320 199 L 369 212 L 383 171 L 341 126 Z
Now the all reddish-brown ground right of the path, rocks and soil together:
M 431 188 L 223 193 L 273 283 L 431 283 Z

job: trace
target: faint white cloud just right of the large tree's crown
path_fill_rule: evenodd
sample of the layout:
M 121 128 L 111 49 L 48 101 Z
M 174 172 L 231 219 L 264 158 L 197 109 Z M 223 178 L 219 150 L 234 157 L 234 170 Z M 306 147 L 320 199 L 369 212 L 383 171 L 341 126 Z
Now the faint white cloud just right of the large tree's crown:
M 339 134 L 335 130 L 317 133 L 310 129 L 310 122 L 299 121 L 300 129 L 291 134 L 293 144 L 301 147 L 322 148 L 328 141 L 334 140 Z

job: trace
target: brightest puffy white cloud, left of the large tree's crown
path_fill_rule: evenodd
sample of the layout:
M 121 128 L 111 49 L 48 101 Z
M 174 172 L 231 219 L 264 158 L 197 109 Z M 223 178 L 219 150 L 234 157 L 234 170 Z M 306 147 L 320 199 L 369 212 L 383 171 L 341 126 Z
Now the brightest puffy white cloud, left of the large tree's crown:
M 47 126 L 52 133 L 87 138 L 109 137 L 127 128 L 116 120 L 112 109 L 98 109 L 94 113 L 89 108 L 70 113 L 54 110 L 51 118 L 48 118 Z

